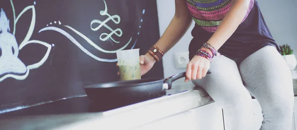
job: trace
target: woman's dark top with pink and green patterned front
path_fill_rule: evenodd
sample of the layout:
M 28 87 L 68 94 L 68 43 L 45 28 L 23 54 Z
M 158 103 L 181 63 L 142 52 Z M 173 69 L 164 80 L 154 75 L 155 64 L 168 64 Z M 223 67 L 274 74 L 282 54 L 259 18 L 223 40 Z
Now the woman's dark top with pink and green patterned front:
M 196 23 L 192 31 L 193 40 L 190 44 L 190 59 L 207 41 L 221 24 L 230 10 L 232 0 L 186 0 L 188 9 Z M 245 58 L 258 49 L 278 45 L 264 21 L 256 0 L 250 0 L 247 14 L 238 29 L 219 49 L 222 55 L 232 59 Z M 191 56 L 192 55 L 192 56 Z

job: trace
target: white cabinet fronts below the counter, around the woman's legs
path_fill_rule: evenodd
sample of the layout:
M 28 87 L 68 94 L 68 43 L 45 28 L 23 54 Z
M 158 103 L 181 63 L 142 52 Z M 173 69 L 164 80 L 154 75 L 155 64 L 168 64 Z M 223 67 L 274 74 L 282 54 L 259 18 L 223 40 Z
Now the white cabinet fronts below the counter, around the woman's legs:
M 262 109 L 256 99 L 253 104 L 253 130 L 262 124 Z M 295 97 L 292 130 L 297 128 L 297 97 Z M 223 112 L 215 102 L 158 120 L 133 130 L 225 130 Z

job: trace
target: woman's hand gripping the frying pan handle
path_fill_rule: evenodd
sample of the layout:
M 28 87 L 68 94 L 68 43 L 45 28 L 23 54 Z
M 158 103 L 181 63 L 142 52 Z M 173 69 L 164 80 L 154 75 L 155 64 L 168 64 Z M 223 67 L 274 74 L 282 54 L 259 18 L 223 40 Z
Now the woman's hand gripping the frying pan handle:
M 205 77 L 209 67 L 210 62 L 208 59 L 201 56 L 194 56 L 187 65 L 185 82 L 191 79 L 196 80 Z

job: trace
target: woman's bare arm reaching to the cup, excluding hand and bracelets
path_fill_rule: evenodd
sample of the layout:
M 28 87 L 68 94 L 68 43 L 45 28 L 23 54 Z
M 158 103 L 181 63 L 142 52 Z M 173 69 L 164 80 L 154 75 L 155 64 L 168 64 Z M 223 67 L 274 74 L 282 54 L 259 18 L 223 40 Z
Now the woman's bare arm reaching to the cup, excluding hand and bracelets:
M 160 39 L 154 44 L 163 53 L 168 52 L 188 31 L 192 23 L 192 16 L 185 0 L 175 0 L 175 15 Z M 155 62 L 149 53 L 146 54 Z

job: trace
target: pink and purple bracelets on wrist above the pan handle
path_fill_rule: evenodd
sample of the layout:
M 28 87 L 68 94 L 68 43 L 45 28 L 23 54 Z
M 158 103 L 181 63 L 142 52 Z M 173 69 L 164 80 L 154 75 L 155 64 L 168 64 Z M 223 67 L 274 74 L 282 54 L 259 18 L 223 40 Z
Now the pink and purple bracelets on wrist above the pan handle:
M 209 60 L 210 63 L 211 63 L 212 58 L 214 56 L 220 56 L 220 53 L 212 45 L 210 45 L 209 43 L 204 42 L 203 45 L 201 46 L 201 48 L 202 47 L 209 49 L 211 51 L 211 53 L 212 53 L 212 56 L 207 51 L 201 50 L 201 49 L 198 49 L 198 51 L 196 52 L 195 55 L 206 58 L 207 60 Z

